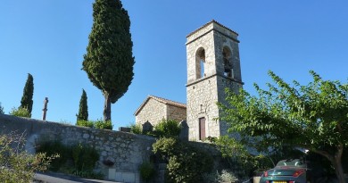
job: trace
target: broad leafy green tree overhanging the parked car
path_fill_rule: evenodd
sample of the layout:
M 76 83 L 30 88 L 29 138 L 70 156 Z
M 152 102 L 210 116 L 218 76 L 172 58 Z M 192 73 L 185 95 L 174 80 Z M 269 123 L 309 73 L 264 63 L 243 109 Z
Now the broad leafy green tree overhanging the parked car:
M 327 158 L 344 183 L 342 154 L 348 146 L 348 85 L 324 80 L 310 71 L 313 81 L 302 86 L 286 83 L 272 71 L 276 85 L 268 90 L 255 84 L 258 96 L 241 90 L 228 91 L 228 105 L 219 104 L 220 120 L 242 137 L 255 137 L 263 147 L 290 145 L 308 149 Z

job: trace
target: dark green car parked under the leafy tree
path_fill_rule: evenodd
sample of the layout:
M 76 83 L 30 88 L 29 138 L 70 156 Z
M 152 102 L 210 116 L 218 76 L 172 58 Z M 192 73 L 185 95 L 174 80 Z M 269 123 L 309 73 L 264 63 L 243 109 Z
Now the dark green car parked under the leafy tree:
M 279 161 L 273 169 L 265 171 L 260 183 L 310 183 L 311 169 L 301 159 Z

